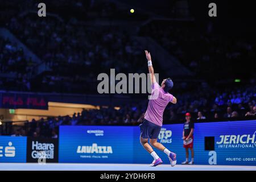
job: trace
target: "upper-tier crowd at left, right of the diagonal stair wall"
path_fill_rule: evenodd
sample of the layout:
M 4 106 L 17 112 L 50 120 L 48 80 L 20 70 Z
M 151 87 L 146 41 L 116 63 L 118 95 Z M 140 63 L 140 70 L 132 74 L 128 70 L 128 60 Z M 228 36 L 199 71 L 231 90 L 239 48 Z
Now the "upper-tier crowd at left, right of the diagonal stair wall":
M 95 92 L 89 89 L 96 88 L 97 75 L 110 68 L 146 72 L 142 46 L 118 27 L 87 28 L 75 19 L 39 20 L 30 14 L 12 18 L 7 27 L 51 68 L 31 81 L 31 91 Z

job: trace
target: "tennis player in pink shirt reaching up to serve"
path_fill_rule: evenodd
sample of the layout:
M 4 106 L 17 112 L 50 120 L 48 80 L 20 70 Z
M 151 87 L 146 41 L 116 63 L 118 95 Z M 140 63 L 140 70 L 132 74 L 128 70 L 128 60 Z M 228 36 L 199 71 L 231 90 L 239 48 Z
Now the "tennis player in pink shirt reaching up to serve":
M 145 53 L 147 58 L 148 72 L 150 73 L 152 92 L 150 100 L 148 101 L 147 111 L 144 115 L 143 122 L 141 125 L 139 125 L 141 129 L 140 140 L 142 146 L 154 158 L 153 162 L 150 164 L 151 167 L 155 167 L 163 163 L 151 146 L 167 154 L 171 166 L 173 167 L 176 164 L 176 154 L 168 150 L 157 140 L 163 125 L 164 109 L 166 109 L 169 102 L 172 102 L 173 104 L 176 104 L 177 102 L 176 98 L 172 96 L 172 94 L 168 93 L 168 91 L 170 91 L 174 86 L 174 83 L 170 78 L 164 79 L 161 86 L 156 82 L 150 52 L 145 51 Z M 150 139 L 151 145 L 148 143 L 148 139 Z

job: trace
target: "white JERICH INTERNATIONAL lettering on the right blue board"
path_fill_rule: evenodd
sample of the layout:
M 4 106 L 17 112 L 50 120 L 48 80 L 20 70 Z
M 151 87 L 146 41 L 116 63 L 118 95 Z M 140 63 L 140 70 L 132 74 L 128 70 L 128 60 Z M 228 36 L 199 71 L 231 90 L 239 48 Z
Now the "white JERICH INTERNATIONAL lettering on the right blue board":
M 220 135 L 218 148 L 256 148 L 256 131 L 253 135 Z

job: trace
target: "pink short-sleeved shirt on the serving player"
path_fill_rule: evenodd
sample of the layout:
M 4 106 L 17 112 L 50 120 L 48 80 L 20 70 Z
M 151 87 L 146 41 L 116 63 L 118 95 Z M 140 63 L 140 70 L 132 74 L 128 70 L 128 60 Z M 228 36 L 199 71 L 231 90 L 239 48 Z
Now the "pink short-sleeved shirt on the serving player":
M 144 118 L 155 125 L 163 125 L 163 112 L 166 106 L 174 98 L 172 94 L 164 92 L 157 82 L 152 84 L 150 101 L 148 101 L 147 111 Z

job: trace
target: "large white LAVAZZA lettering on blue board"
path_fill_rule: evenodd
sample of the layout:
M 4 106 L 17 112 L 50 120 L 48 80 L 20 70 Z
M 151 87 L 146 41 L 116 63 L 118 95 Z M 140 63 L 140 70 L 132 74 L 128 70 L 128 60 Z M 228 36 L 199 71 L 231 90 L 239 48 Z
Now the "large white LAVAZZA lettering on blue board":
M 111 146 L 98 146 L 93 143 L 92 146 L 78 146 L 77 154 L 113 154 Z

